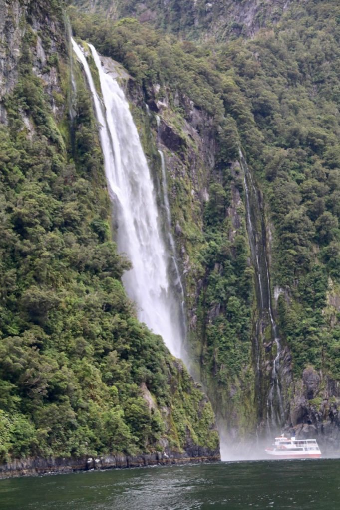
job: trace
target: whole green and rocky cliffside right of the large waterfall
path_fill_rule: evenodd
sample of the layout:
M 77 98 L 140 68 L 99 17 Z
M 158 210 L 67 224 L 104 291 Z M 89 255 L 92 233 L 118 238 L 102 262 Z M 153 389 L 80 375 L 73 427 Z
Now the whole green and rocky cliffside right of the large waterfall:
M 164 153 L 189 368 L 229 438 L 284 428 L 338 447 L 339 98 L 337 68 L 325 64 L 338 59 L 334 7 L 291 4 L 275 30 L 211 53 L 134 20 L 75 22 L 134 77 L 156 185 Z M 328 41 L 319 55 L 317 39 Z M 263 304 L 256 282 L 267 270 Z

